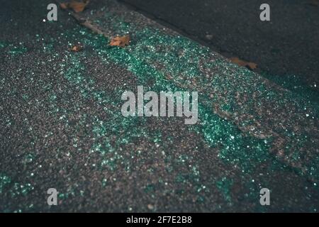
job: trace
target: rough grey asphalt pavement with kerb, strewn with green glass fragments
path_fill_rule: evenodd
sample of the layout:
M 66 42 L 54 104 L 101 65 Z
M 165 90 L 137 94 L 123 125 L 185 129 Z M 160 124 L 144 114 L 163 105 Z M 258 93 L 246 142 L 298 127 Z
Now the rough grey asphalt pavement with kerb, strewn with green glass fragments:
M 117 1 L 50 3 L 0 1 L 1 212 L 318 212 L 318 103 Z M 125 118 L 138 85 L 197 91 L 198 123 Z

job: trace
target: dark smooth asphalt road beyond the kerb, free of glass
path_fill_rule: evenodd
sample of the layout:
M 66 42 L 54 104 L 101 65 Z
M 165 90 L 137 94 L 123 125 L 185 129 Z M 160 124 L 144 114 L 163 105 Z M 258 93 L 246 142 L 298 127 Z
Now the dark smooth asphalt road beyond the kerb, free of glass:
M 286 77 L 318 91 L 319 7 L 310 0 L 121 1 L 225 57 L 257 63 L 269 79 Z M 259 19 L 264 3 L 270 21 Z

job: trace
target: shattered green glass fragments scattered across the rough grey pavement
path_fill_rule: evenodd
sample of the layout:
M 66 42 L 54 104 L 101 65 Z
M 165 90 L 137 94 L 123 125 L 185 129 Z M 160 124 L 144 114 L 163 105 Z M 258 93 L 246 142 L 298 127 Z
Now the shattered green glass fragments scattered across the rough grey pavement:
M 259 183 L 254 179 L 259 172 L 257 167 L 264 163 L 272 165 L 266 169 L 264 175 L 276 175 L 277 172 L 285 172 L 289 170 L 287 165 L 282 164 L 279 160 L 271 155 L 270 149 L 272 146 L 272 137 L 258 138 L 249 133 L 242 133 L 242 130 L 233 122 L 229 121 L 227 116 L 213 111 L 212 106 L 220 104 L 225 113 L 234 114 L 240 111 L 240 106 L 237 105 L 234 96 L 237 94 L 247 94 L 252 96 L 256 92 L 260 94 L 260 98 L 269 99 L 280 105 L 279 100 L 293 100 L 296 104 L 296 109 L 314 109 L 312 117 L 318 118 L 318 106 L 308 103 L 304 99 L 298 99 L 295 94 L 286 92 L 284 96 L 279 96 L 275 92 L 267 90 L 264 84 L 258 84 L 258 79 L 255 75 L 246 69 L 240 69 L 235 65 L 230 64 L 226 60 L 220 60 L 220 57 L 214 56 L 208 48 L 189 40 L 188 38 L 177 35 L 169 35 L 156 28 L 138 28 L 133 23 L 121 21 L 121 19 L 113 19 L 113 16 L 106 13 L 106 19 L 111 21 L 113 31 L 119 35 L 130 33 L 132 41 L 126 48 L 111 48 L 108 46 L 109 39 L 102 35 L 95 35 L 85 28 L 76 27 L 71 30 L 64 31 L 59 34 L 63 40 L 77 40 L 84 44 L 84 51 L 69 52 L 65 50 L 63 55 L 55 52 L 55 48 L 61 45 L 60 41 L 46 37 L 47 42 L 43 43 L 42 38 L 38 35 L 38 41 L 43 43 L 41 51 L 49 53 L 52 58 L 60 58 L 59 65 L 55 65 L 57 74 L 62 75 L 69 83 L 70 87 L 81 95 L 83 102 L 94 100 L 94 103 L 100 107 L 107 115 L 108 120 L 103 121 L 99 115 L 88 116 L 82 114 L 79 120 L 79 126 L 85 126 L 88 122 L 91 123 L 91 132 L 87 136 L 93 136 L 94 143 L 89 150 L 81 150 L 79 147 L 79 139 L 74 137 L 72 140 L 73 147 L 78 149 L 78 154 L 87 153 L 89 160 L 95 154 L 99 155 L 99 159 L 89 162 L 95 171 L 116 172 L 119 166 L 124 167 L 125 171 L 131 172 L 138 167 L 145 165 L 147 160 L 141 158 L 139 162 L 131 162 L 134 157 L 142 157 L 142 154 L 135 150 L 130 150 L 128 155 L 123 153 L 123 146 L 130 143 L 135 143 L 137 138 L 145 138 L 152 141 L 158 147 L 165 147 L 167 141 L 162 140 L 162 132 L 152 131 L 147 125 L 147 118 L 123 118 L 121 115 L 121 94 L 124 92 L 122 87 L 118 87 L 115 92 L 107 92 L 101 87 L 96 86 L 96 81 L 90 74 L 86 72 L 86 57 L 89 54 L 85 50 L 93 50 L 100 60 L 103 62 L 121 65 L 125 70 L 132 72 L 138 78 L 138 84 L 144 85 L 147 89 L 160 91 L 189 91 L 195 90 L 200 92 L 198 100 L 198 118 L 199 122 L 195 126 L 189 126 L 189 131 L 194 131 L 203 137 L 206 143 L 211 148 L 218 148 L 218 157 L 225 165 L 237 166 L 241 170 L 242 184 L 247 187 L 247 197 L 254 199 L 258 194 L 262 185 L 267 182 L 262 182 L 262 177 L 259 177 Z M 97 21 L 99 22 L 99 21 Z M 70 41 L 69 44 L 72 42 Z M 4 44 L 0 44 L 0 48 L 6 48 Z M 26 48 L 23 45 L 9 46 L 9 52 L 12 54 L 23 53 Z M 53 62 L 53 61 L 52 61 Z M 43 65 L 45 62 L 39 62 Z M 208 77 L 213 74 L 214 77 Z M 229 77 L 232 75 L 232 77 Z M 33 78 L 30 72 L 30 79 Z M 237 79 L 231 79 L 237 78 Z M 242 84 L 238 84 L 238 82 Z M 51 85 L 47 85 L 46 89 L 50 90 Z M 55 116 L 57 121 L 64 124 L 66 128 L 72 127 L 70 116 L 74 116 L 79 111 L 81 112 L 80 103 L 72 103 L 74 108 L 68 109 L 67 105 L 59 105 L 60 99 L 57 99 L 57 94 L 49 92 L 47 101 L 50 106 L 50 114 Z M 225 94 L 223 97 L 211 96 L 215 94 Z M 26 94 L 25 94 L 26 95 Z M 26 99 L 28 95 L 25 96 Z M 65 100 L 71 97 L 65 96 Z M 257 116 L 250 109 L 255 101 L 247 101 L 247 113 L 252 116 Z M 250 106 L 251 105 L 251 106 Z M 250 121 L 257 119 L 251 118 Z M 168 120 L 167 120 L 168 121 Z M 243 121 L 242 126 L 250 125 L 250 121 Z M 32 131 L 33 129 L 30 128 Z M 296 140 L 297 144 L 302 146 L 306 143 L 307 136 L 292 135 L 289 131 L 283 132 L 291 140 Z M 48 133 L 47 136 L 52 134 Z M 112 140 L 115 136 L 116 140 Z M 36 141 L 35 141 L 36 142 Z M 149 148 L 149 152 L 156 152 L 155 148 Z M 286 149 L 292 149 L 289 145 Z M 72 158 L 72 155 L 65 150 L 61 150 L 62 157 Z M 177 165 L 187 167 L 186 172 L 178 174 L 174 178 L 173 184 L 192 185 L 194 193 L 200 194 L 197 201 L 203 201 L 206 193 L 210 190 L 206 184 L 211 183 L 223 195 L 225 201 L 232 206 L 232 187 L 235 179 L 226 175 L 214 179 L 214 182 L 205 182 L 201 179 L 199 167 L 191 162 L 191 157 L 187 155 L 179 155 L 179 157 L 167 156 L 163 151 L 163 158 L 167 163 L 167 172 L 173 172 Z M 293 158 L 301 159 L 301 154 L 296 150 L 293 153 Z M 27 155 L 27 160 L 36 159 L 33 153 Z M 32 161 L 30 161 L 32 162 Z M 174 163 L 174 165 L 170 165 Z M 28 165 L 28 162 L 26 162 Z M 319 178 L 318 159 L 313 162 L 306 163 L 306 172 L 293 168 L 294 171 L 306 177 Z M 152 167 L 147 170 L 152 174 Z M 0 175 L 0 191 L 11 185 L 11 194 L 28 194 L 33 186 L 30 184 L 20 184 L 12 182 L 7 175 Z M 103 187 L 107 187 L 109 182 L 116 181 L 116 178 L 101 180 Z M 156 198 L 157 188 L 166 188 L 168 183 L 159 179 L 154 184 L 147 184 L 144 187 L 144 192 L 150 194 L 152 198 Z M 172 183 L 171 183 L 172 184 Z M 318 182 L 314 183 L 317 186 Z M 167 193 L 174 193 L 166 189 Z M 79 190 L 74 188 L 66 189 L 60 194 L 60 199 L 66 199 L 68 196 L 76 194 Z M 82 196 L 85 192 L 80 190 Z M 179 194 L 184 194 L 183 189 L 177 189 Z

